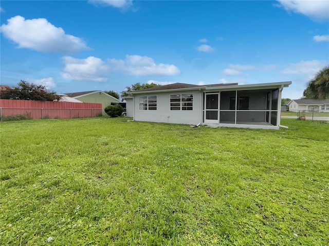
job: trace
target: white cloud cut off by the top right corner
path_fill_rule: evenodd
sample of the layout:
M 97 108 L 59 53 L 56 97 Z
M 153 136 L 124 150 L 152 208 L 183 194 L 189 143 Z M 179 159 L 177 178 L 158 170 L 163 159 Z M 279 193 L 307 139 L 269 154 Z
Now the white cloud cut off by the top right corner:
M 280 3 L 279 6 L 283 7 L 286 11 L 300 13 L 311 19 L 323 20 L 329 18 L 329 2 L 326 0 L 278 0 L 278 2 Z

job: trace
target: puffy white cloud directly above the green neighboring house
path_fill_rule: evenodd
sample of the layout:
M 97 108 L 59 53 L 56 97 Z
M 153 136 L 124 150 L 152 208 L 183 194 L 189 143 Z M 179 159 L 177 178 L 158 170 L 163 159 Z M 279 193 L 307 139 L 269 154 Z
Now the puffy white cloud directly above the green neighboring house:
M 86 59 L 78 59 L 71 56 L 63 58 L 65 68 L 61 72 L 63 79 L 106 82 L 106 72 L 109 67 L 100 58 L 89 56 Z

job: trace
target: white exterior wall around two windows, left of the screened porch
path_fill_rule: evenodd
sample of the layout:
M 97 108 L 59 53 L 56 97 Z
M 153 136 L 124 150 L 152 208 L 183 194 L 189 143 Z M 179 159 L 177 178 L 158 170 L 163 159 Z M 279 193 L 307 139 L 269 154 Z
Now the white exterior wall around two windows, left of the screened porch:
M 196 90 L 165 93 L 154 91 L 154 93 L 136 94 L 134 95 L 134 120 L 196 125 L 202 122 L 202 93 L 202 91 Z M 171 94 L 193 94 L 193 110 L 171 111 Z M 139 97 L 152 95 L 157 96 L 157 110 L 139 110 Z

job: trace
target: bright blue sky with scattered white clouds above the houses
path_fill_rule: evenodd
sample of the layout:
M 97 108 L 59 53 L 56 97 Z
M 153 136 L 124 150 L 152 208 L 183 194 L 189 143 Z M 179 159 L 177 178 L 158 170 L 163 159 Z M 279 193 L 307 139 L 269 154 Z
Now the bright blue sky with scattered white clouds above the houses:
M 293 81 L 329 64 L 328 1 L 4 1 L 1 85 L 57 93 L 135 83 Z

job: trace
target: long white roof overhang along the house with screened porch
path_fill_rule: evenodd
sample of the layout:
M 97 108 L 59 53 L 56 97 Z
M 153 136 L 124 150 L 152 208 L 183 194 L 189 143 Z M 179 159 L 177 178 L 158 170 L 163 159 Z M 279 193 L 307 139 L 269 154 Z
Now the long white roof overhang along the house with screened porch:
M 291 85 L 291 81 L 275 82 L 275 83 L 263 83 L 263 84 L 250 84 L 250 85 L 228 85 L 228 86 L 197 86 L 190 88 L 178 88 L 178 89 L 167 89 L 167 90 L 153 90 L 153 91 L 131 91 L 130 94 L 154 94 L 162 92 L 173 92 L 173 91 L 228 91 L 228 90 L 251 90 L 251 89 L 272 89 L 288 87 Z

